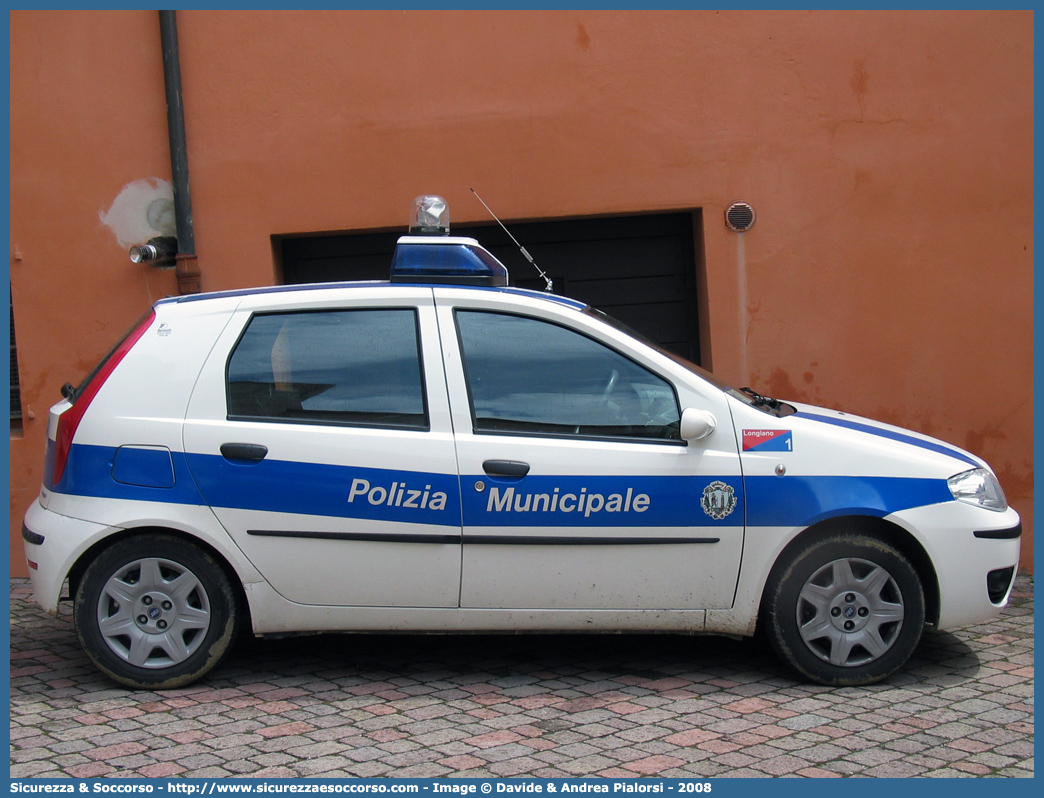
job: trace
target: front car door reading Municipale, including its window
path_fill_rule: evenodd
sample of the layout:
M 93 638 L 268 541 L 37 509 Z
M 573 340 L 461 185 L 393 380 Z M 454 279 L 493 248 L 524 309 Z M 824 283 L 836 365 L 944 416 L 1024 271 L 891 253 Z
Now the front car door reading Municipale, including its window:
M 461 475 L 460 606 L 730 607 L 743 496 L 723 395 L 572 303 L 435 294 Z M 679 437 L 690 406 L 717 419 L 702 441 Z

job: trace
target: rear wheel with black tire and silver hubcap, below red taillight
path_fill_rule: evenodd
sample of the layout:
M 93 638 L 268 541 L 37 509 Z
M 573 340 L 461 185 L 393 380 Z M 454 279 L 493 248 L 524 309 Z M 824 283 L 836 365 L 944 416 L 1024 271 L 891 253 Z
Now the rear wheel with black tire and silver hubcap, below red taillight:
M 88 656 L 111 679 L 170 689 L 221 661 L 238 611 L 232 584 L 210 554 L 152 534 L 124 538 L 95 558 L 79 581 L 73 620 Z

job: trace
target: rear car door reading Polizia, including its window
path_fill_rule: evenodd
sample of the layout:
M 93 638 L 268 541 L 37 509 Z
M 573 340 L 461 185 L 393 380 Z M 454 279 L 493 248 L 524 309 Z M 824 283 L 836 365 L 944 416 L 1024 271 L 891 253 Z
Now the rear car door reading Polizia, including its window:
M 217 342 L 185 448 L 218 519 L 284 597 L 457 606 L 437 341 L 431 289 L 385 285 L 247 296 Z

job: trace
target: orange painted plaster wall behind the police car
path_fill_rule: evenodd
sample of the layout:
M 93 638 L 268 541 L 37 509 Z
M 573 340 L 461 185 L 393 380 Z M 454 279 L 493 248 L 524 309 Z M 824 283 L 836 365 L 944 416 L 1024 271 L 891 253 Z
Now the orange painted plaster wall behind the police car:
M 506 219 L 703 208 L 705 361 L 983 455 L 1031 566 L 1030 11 L 177 18 L 205 290 L 276 282 L 272 235 L 403 227 L 422 192 L 458 224 L 488 218 L 470 186 Z M 156 11 L 10 22 L 24 573 L 47 407 L 176 287 L 99 219 L 170 180 Z

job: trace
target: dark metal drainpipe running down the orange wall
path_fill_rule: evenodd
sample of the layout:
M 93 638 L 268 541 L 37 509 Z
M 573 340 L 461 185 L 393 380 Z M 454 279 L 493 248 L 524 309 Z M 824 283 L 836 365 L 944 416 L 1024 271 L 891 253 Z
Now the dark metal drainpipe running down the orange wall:
M 177 257 L 174 275 L 177 292 L 199 292 L 199 260 L 192 230 L 192 195 L 189 193 L 189 152 L 185 142 L 185 110 L 182 105 L 182 68 L 177 51 L 177 20 L 174 11 L 160 11 L 163 45 L 163 84 L 167 94 L 167 133 L 170 138 L 170 171 L 174 183 L 174 221 L 177 225 Z

